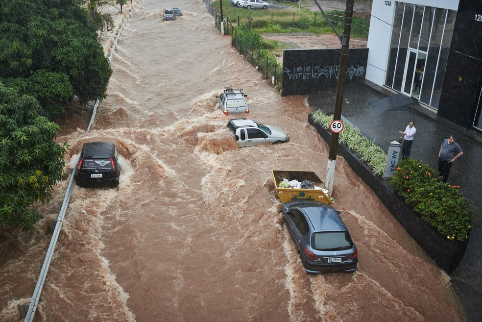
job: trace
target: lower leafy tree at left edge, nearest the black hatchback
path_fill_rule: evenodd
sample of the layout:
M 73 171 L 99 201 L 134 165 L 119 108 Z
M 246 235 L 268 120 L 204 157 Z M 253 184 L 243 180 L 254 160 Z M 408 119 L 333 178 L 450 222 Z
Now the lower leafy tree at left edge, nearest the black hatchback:
M 36 201 L 51 197 L 52 186 L 63 178 L 64 155 L 60 129 L 39 116 L 40 105 L 0 83 L 0 225 L 32 229 L 40 214 Z

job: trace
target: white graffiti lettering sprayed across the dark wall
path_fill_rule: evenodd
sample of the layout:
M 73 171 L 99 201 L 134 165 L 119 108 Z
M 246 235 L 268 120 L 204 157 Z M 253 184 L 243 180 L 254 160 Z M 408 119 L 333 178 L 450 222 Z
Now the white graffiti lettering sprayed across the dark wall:
M 284 68 L 283 73 L 288 75 L 289 79 L 298 80 L 310 80 L 319 78 L 338 78 L 339 65 L 330 66 L 298 66 L 293 67 L 293 69 Z M 346 74 L 350 77 L 350 80 L 354 76 L 363 76 L 365 74 L 365 67 L 358 65 L 358 67 L 348 67 L 346 69 Z

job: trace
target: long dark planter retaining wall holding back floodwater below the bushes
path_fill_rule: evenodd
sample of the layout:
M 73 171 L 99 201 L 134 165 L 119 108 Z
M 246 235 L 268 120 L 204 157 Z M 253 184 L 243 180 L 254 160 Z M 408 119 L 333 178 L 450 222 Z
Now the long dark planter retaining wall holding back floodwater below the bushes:
M 319 124 L 315 124 L 310 114 L 308 123 L 313 125 L 325 142 L 329 143 L 331 132 Z M 376 176 L 371 172 L 370 167 L 360 160 L 342 144 L 338 146 L 338 155 L 342 156 L 348 165 L 358 174 L 385 204 L 390 213 L 405 228 L 410 236 L 420 245 L 421 248 L 434 260 L 434 262 L 445 272 L 453 272 L 462 260 L 467 249 L 468 240 L 465 242 L 448 241 L 432 226 L 426 224 L 408 207 L 404 200 L 393 193 L 386 179 Z

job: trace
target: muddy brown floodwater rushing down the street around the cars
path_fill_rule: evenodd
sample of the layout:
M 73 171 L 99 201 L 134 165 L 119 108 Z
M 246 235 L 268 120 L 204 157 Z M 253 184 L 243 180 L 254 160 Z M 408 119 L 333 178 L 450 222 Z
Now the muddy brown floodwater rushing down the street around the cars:
M 73 188 L 35 321 L 465 321 L 449 277 L 342 158 L 332 196 L 359 269 L 307 274 L 271 179 L 273 169 L 326 172 L 306 97 L 281 97 L 202 1 L 133 2 L 93 127 L 85 133 L 88 108 L 72 107 L 58 136 L 72 146 L 66 171 L 84 142 L 115 142 L 120 186 Z M 163 22 L 168 6 L 184 15 Z M 216 107 L 225 85 L 243 88 L 249 117 L 291 141 L 238 149 Z M 35 232 L 0 230 L 2 322 L 20 321 L 17 304 L 32 296 L 67 185 L 36 206 L 46 219 Z

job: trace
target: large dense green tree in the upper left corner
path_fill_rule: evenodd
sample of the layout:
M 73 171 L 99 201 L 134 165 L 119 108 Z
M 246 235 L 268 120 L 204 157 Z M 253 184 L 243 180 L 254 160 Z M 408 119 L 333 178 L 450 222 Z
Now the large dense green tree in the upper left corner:
M 97 27 L 76 0 L 0 1 L 0 81 L 37 99 L 42 115 L 105 98 L 111 75 Z

